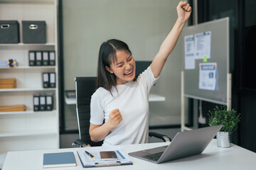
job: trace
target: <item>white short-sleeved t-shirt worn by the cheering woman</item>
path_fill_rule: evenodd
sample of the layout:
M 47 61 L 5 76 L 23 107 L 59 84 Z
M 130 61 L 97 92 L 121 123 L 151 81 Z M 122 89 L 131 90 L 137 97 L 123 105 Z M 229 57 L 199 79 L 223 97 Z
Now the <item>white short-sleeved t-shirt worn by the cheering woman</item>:
M 125 145 L 148 142 L 149 132 L 149 91 L 156 82 L 150 66 L 139 74 L 137 81 L 117 85 L 110 91 L 100 87 L 92 94 L 90 123 L 102 125 L 107 122 L 110 112 L 118 108 L 122 121 L 112 128 L 103 145 Z

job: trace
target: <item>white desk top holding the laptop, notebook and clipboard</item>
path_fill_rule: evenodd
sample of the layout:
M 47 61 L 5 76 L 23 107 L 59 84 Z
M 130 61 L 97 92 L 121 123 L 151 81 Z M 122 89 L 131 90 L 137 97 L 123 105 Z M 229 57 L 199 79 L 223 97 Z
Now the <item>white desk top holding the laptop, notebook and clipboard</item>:
M 157 147 L 166 145 L 166 143 L 150 143 L 141 145 L 121 145 L 121 149 L 124 152 L 134 152 L 140 149 L 146 149 L 151 147 Z M 114 147 L 108 147 L 114 148 Z M 75 153 L 75 159 L 78 166 L 73 167 L 62 167 L 53 168 L 58 169 L 84 169 L 82 168 L 80 159 L 77 154 L 78 149 L 83 148 L 70 148 L 70 149 L 52 149 L 52 150 L 36 150 L 36 151 L 25 151 L 25 152 L 8 152 L 6 160 L 4 162 L 3 170 L 37 170 L 43 169 L 43 153 L 50 152 L 67 152 L 73 151 Z M 97 148 L 95 148 L 97 149 Z M 151 162 L 146 162 L 142 159 L 137 159 L 130 157 L 132 159 L 133 165 L 124 166 L 111 166 L 111 167 L 97 167 L 97 168 L 87 168 L 87 169 L 136 169 L 136 170 L 156 170 L 156 169 L 255 169 L 256 168 L 256 154 L 250 152 L 247 149 L 238 147 L 237 145 L 232 145 L 230 148 L 219 148 L 216 145 L 216 140 L 210 142 L 210 145 L 206 147 L 203 154 L 198 154 L 192 157 L 186 157 L 183 159 L 177 159 L 172 162 L 165 162 L 162 164 L 154 164 Z M 50 169 L 45 169 L 50 170 Z

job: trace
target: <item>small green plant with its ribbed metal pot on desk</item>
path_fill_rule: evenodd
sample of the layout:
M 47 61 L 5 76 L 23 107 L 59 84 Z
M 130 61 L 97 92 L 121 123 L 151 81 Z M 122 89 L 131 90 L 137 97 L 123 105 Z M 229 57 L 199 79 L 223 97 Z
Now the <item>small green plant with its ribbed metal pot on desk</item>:
M 227 106 L 215 106 L 213 111 L 209 111 L 209 125 L 223 125 L 223 128 L 217 133 L 218 147 L 230 147 L 233 131 L 238 128 L 240 113 Z

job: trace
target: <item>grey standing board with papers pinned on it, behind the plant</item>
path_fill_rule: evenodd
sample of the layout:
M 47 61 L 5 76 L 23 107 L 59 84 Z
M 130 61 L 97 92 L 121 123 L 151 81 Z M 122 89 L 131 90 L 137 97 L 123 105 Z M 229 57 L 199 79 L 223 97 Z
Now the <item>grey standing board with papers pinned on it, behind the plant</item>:
M 185 42 L 184 38 L 188 35 L 196 35 L 210 31 L 210 58 L 207 62 L 203 59 L 195 60 L 194 69 L 185 68 Z M 226 105 L 228 100 L 228 74 L 229 69 L 229 18 L 221 18 L 215 21 L 201 23 L 196 26 L 189 26 L 183 29 L 183 95 L 189 98 L 196 98 L 212 103 Z M 218 89 L 205 90 L 199 89 L 199 64 L 217 63 L 217 82 Z

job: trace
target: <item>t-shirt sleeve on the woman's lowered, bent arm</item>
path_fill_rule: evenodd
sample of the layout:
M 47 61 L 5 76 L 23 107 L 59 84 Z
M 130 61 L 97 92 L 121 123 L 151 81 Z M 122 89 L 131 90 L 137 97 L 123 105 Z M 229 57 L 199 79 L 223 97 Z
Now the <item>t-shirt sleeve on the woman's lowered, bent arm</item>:
M 102 125 L 104 121 L 104 111 L 102 107 L 102 98 L 99 91 L 92 94 L 90 103 L 90 123 L 93 125 Z

